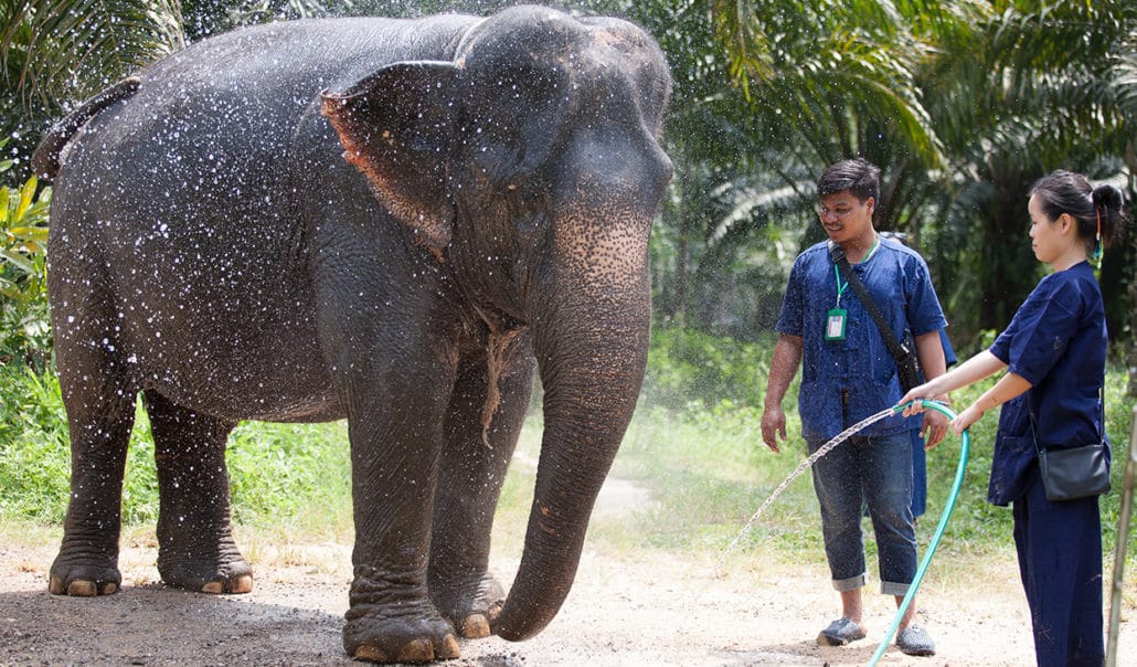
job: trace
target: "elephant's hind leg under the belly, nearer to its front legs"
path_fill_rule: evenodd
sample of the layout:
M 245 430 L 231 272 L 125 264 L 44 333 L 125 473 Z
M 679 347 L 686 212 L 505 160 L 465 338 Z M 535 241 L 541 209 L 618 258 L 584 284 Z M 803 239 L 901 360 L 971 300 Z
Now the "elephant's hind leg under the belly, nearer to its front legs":
M 172 586 L 248 593 L 252 569 L 230 528 L 225 443 L 235 422 L 146 392 L 158 469 L 158 571 Z

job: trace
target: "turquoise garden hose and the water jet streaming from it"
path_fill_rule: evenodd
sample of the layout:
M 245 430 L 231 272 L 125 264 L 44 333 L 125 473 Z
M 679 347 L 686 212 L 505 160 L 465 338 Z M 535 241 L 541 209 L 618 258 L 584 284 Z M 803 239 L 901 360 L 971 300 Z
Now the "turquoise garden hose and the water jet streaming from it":
M 735 540 L 731 541 L 730 545 L 727 546 L 727 551 L 723 552 L 722 557 L 720 557 L 719 559 L 719 563 L 715 566 L 715 576 L 721 575 L 722 566 L 725 562 L 727 557 L 730 555 L 731 551 L 733 551 L 735 546 L 742 538 L 742 535 L 745 535 L 750 529 L 750 526 L 758 520 L 758 517 L 761 517 L 762 513 L 766 510 L 766 508 L 770 507 L 779 495 L 781 495 L 781 492 L 785 491 L 786 487 L 789 486 L 789 484 L 794 481 L 795 478 L 805 472 L 805 470 L 811 466 L 813 466 L 818 461 L 818 459 L 821 459 L 822 456 L 831 452 L 833 447 L 836 447 L 837 445 L 844 443 L 848 438 L 853 437 L 861 430 L 872 426 L 873 423 L 882 419 L 886 419 L 889 415 L 896 414 L 897 412 L 904 411 L 904 409 L 906 409 L 912 403 L 902 403 L 899 405 L 894 405 L 893 407 L 881 410 L 877 414 L 862 419 L 861 421 L 854 423 L 853 426 L 839 433 L 833 439 L 822 445 L 816 452 L 811 454 L 808 459 L 806 459 L 797 468 L 795 468 L 794 471 L 790 472 L 789 477 L 787 477 L 786 480 L 782 481 L 778 486 L 778 488 L 774 489 L 774 492 L 770 495 L 770 497 L 766 499 L 764 503 L 762 503 L 762 505 L 758 508 L 758 511 L 754 512 L 754 516 L 750 517 L 750 520 L 747 521 L 745 526 L 742 526 L 742 529 L 739 530 L 737 536 L 735 536 Z M 923 405 L 924 409 L 935 410 L 936 412 L 945 414 L 948 419 L 954 420 L 956 417 L 955 413 L 952 412 L 943 403 L 937 403 L 936 401 L 921 400 L 921 404 Z M 952 483 L 952 489 L 947 494 L 947 502 L 944 504 L 944 511 L 939 516 L 939 524 L 936 526 L 936 530 L 932 533 L 931 540 L 928 543 L 928 549 L 924 551 L 924 557 L 920 561 L 920 566 L 916 568 L 915 576 L 912 578 L 912 584 L 908 585 L 907 594 L 904 595 L 904 600 L 901 602 L 901 606 L 896 609 L 896 617 L 893 618 L 891 626 L 889 626 L 888 632 L 885 634 L 885 637 L 880 641 L 880 645 L 877 647 L 877 652 L 872 656 L 872 659 L 869 660 L 870 667 L 875 665 L 880 660 L 880 658 L 885 654 L 885 650 L 888 648 L 888 643 L 893 640 L 893 635 L 896 634 L 896 629 L 901 625 L 901 619 L 904 618 L 905 611 L 907 611 L 908 607 L 912 604 L 912 600 L 915 598 L 916 591 L 920 588 L 920 582 L 923 580 L 924 573 L 928 571 L 928 566 L 931 565 L 932 557 L 936 555 L 936 549 L 939 546 L 939 542 L 944 536 L 945 528 L 947 528 L 948 519 L 952 518 L 952 510 L 955 509 L 955 501 L 960 495 L 960 487 L 963 485 L 963 472 L 968 466 L 968 451 L 970 448 L 971 448 L 971 429 L 964 429 L 962 436 L 960 437 L 960 463 L 955 468 L 955 480 Z

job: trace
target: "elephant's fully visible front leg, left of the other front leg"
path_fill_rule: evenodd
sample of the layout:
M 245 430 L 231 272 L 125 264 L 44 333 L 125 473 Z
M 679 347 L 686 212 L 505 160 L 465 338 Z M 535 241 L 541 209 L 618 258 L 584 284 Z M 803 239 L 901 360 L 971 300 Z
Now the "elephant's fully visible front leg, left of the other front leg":
M 458 657 L 454 627 L 426 588 L 433 489 L 454 370 L 425 365 L 431 368 L 387 369 L 382 382 L 360 382 L 349 392 L 355 400 L 348 429 L 356 543 L 343 648 L 366 660 Z

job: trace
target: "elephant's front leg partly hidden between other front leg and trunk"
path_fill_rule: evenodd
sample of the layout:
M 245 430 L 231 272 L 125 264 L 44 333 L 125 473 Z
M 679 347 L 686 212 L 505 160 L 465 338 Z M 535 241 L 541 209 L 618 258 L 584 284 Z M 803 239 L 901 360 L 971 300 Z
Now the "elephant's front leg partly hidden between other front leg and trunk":
M 460 368 L 450 398 L 429 580 L 431 599 L 465 637 L 488 636 L 505 601 L 501 585 L 489 574 L 490 532 L 532 393 L 528 349 L 526 340 L 515 340 L 500 360 L 505 367 L 498 377 L 500 403 L 488 425 L 484 356 Z

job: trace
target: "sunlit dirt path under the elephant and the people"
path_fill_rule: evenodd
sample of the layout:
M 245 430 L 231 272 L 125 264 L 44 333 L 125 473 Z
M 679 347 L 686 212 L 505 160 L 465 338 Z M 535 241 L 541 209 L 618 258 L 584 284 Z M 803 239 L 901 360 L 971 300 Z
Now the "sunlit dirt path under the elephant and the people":
M 626 508 L 650 502 L 642 489 L 609 481 L 594 524 L 619 520 Z M 345 656 L 340 643 L 350 545 L 263 544 L 256 535 L 240 541 L 256 584 L 252 593 L 233 596 L 164 587 L 156 580 L 152 536 L 124 546 L 124 586 L 102 599 L 47 592 L 55 544 L 0 545 L 0 666 L 360 665 Z M 865 665 L 891 624 L 891 599 L 869 595 L 869 637 L 845 648 L 819 647 L 818 631 L 839 611 L 823 567 L 740 562 L 715 577 L 717 557 L 680 561 L 658 551 L 601 554 L 586 545 L 573 590 L 541 634 L 521 643 L 464 641 L 462 658 L 446 664 Z M 508 585 L 517 562 L 497 558 L 491 566 Z M 965 573 L 958 580 L 929 575 L 921 586 L 920 623 L 935 637 L 938 653 L 911 658 L 889 647 L 881 665 L 1034 664 L 1013 560 L 971 563 Z M 1137 664 L 1137 623 L 1129 620 L 1137 583 L 1127 578 L 1119 665 Z

